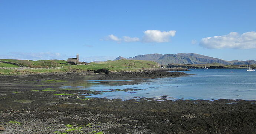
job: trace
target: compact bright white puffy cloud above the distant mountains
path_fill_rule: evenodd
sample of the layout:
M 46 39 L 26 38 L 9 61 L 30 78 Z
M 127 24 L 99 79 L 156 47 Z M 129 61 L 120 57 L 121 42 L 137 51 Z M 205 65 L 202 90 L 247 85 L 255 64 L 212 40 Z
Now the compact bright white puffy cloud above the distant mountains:
M 174 30 L 163 31 L 160 30 L 147 30 L 144 31 L 144 42 L 169 42 L 170 37 L 175 36 Z

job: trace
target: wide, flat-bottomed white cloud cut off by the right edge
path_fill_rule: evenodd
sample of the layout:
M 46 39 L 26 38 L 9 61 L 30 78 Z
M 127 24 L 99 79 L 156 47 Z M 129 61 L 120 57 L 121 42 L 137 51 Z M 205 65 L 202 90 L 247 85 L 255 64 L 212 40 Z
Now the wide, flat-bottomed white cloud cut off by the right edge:
M 230 32 L 224 36 L 214 36 L 202 38 L 200 46 L 214 49 L 214 48 L 236 48 L 236 49 L 250 49 L 256 48 L 256 32 L 246 32 L 240 35 L 237 32 Z

